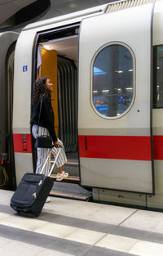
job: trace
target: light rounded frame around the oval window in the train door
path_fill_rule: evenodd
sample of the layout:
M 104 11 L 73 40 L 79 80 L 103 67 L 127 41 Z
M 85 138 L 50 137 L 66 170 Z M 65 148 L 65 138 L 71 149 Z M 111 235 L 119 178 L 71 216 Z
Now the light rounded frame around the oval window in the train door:
M 133 76 L 132 76 L 132 83 L 133 83 L 133 94 L 132 94 L 132 101 L 130 102 L 130 106 L 127 107 L 127 109 L 121 114 L 121 115 L 116 115 L 116 116 L 106 116 L 106 115 L 102 115 L 99 113 L 99 111 L 95 108 L 95 104 L 94 104 L 94 100 L 93 100 L 93 78 L 94 78 L 94 63 L 95 63 L 95 59 L 96 57 L 99 55 L 99 52 L 102 52 L 104 50 L 105 47 L 109 47 L 112 45 L 119 45 L 122 47 L 126 47 L 126 49 L 130 52 L 130 55 L 132 56 L 132 64 L 133 64 Z M 131 47 L 129 47 L 126 43 L 122 43 L 119 41 L 113 41 L 110 43 L 106 43 L 104 44 L 102 47 L 100 47 L 98 49 L 97 52 L 95 52 L 95 55 L 93 56 L 91 63 L 90 63 L 90 103 L 91 106 L 93 108 L 93 110 L 95 111 L 95 113 L 97 115 L 99 115 L 101 118 L 103 119 L 120 119 L 121 117 L 123 117 L 124 115 L 126 115 L 130 109 L 132 108 L 132 106 L 134 105 L 134 100 L 135 100 L 135 94 L 136 94 L 136 87 L 135 87 L 135 79 L 136 79 L 136 58 L 134 55 L 134 51 L 131 49 Z

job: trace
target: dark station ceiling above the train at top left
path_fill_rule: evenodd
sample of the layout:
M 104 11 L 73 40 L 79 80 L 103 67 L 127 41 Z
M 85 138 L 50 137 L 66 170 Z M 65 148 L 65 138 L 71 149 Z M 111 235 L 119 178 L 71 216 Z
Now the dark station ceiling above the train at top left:
M 46 20 L 115 0 L 0 0 L 0 31 L 23 28 Z

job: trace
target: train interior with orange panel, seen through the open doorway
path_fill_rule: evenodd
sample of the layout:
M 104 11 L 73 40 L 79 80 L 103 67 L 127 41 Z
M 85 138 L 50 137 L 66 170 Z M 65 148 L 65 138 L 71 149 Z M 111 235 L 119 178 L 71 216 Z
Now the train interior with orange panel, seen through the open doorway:
M 55 132 L 64 142 L 69 177 L 62 184 L 54 182 L 55 195 L 88 200 L 91 191 L 79 186 L 80 168 L 77 141 L 77 57 L 78 27 L 43 34 L 37 42 L 37 76 L 48 76 L 54 84 L 51 103 L 55 112 Z M 53 156 L 51 163 L 54 161 Z M 57 168 L 51 177 L 55 179 Z

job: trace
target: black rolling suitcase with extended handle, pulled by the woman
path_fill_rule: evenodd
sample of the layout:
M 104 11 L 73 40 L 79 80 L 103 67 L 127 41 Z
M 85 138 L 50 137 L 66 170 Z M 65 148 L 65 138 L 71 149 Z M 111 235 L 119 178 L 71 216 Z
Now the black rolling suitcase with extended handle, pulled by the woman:
M 51 152 L 46 158 L 46 162 L 50 155 Z M 58 156 L 59 152 L 48 176 L 42 174 L 43 169 L 46 166 L 46 162 L 42 167 L 41 173 L 24 174 L 24 177 L 22 177 L 14 195 L 11 197 L 11 208 L 15 209 L 18 213 L 32 213 L 35 216 L 38 216 L 41 213 L 43 205 L 46 202 L 46 198 L 53 186 L 53 180 L 50 176 Z

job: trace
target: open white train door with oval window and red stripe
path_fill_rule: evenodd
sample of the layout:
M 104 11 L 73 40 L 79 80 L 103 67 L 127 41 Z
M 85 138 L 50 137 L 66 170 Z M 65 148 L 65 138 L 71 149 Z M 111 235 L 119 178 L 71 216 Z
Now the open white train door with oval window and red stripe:
M 154 194 L 152 3 L 81 22 L 81 185 Z

